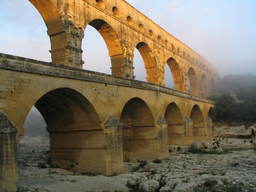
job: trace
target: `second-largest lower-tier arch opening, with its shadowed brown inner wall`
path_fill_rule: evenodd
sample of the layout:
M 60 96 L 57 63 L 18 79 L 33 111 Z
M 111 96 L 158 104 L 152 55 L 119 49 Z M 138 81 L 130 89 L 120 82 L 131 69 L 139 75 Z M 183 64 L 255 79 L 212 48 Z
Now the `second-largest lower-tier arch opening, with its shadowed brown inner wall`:
M 157 135 L 153 115 L 139 98 L 129 100 L 123 108 L 123 153 L 125 161 L 153 160 L 156 158 Z

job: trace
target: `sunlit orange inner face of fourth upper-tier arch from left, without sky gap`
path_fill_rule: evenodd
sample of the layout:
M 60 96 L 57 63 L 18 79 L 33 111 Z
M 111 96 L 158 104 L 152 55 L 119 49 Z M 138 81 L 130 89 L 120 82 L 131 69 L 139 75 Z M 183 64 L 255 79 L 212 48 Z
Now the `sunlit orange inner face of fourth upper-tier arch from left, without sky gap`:
M 178 91 L 185 91 L 184 77 L 178 62 L 171 57 L 167 60 L 167 65 L 171 70 L 175 89 Z

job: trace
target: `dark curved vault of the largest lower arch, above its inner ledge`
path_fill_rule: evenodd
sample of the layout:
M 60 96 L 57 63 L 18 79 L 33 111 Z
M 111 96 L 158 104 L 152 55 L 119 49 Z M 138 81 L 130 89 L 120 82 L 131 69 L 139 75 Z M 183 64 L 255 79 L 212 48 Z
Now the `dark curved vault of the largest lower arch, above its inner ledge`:
M 63 131 L 63 128 L 101 129 L 93 105 L 82 94 L 70 88 L 49 91 L 38 99 L 35 107 L 43 115 L 50 132 L 59 129 Z M 74 124 L 76 127 L 73 127 Z

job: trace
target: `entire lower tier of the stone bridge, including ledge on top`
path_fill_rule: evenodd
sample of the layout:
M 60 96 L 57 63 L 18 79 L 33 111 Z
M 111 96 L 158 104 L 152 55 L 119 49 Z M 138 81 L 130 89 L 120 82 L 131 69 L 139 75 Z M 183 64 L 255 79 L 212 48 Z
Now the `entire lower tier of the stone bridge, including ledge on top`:
M 33 106 L 48 126 L 52 164 L 80 173 L 118 174 L 124 161 L 163 159 L 169 144 L 212 138 L 212 101 L 156 84 L 6 54 L 0 82 L 6 158 L 15 158 L 10 135 L 23 135 Z

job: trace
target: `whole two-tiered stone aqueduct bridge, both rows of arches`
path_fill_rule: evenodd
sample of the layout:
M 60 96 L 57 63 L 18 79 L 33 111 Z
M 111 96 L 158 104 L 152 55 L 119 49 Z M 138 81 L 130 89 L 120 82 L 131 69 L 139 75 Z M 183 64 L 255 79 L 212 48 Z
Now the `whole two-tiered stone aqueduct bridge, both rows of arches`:
M 30 1 L 48 27 L 52 62 L 0 54 L 0 191 L 15 190 L 15 135 L 32 106 L 47 122 L 52 164 L 75 172 L 118 174 L 124 161 L 212 138 L 214 103 L 203 97 L 217 74 L 193 50 L 123 0 Z M 103 36 L 112 75 L 81 69 L 87 25 Z M 135 48 L 148 82 L 133 79 Z M 166 65 L 176 90 L 164 87 Z

